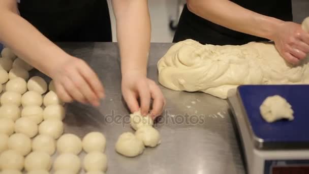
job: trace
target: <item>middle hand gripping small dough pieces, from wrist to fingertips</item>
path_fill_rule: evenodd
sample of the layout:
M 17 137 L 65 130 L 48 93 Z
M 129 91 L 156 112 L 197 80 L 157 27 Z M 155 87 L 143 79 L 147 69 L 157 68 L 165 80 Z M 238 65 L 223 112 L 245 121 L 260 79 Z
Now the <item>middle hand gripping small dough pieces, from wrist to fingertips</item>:
M 138 98 L 143 115 L 149 111 L 151 98 L 153 99 L 151 117 L 154 119 L 162 113 L 165 99 L 159 86 L 141 73 L 129 73 L 122 76 L 121 90 L 132 113 L 139 109 Z

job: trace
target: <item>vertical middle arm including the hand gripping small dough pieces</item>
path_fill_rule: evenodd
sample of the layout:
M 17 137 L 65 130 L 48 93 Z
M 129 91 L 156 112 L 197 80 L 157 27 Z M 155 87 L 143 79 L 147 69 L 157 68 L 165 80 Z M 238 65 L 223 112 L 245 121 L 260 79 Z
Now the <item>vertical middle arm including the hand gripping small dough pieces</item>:
M 131 112 L 139 108 L 146 114 L 153 101 L 153 117 L 160 114 L 164 98 L 159 86 L 147 79 L 150 47 L 150 17 L 146 0 L 113 0 L 117 39 L 121 56 L 122 94 Z

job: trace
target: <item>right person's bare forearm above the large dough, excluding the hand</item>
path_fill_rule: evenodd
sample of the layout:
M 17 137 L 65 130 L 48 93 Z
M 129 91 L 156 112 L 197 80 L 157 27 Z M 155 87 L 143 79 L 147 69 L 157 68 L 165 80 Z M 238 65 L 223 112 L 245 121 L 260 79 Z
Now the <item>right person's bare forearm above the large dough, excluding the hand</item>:
M 231 30 L 272 40 L 283 21 L 245 9 L 228 0 L 187 0 L 191 12 Z

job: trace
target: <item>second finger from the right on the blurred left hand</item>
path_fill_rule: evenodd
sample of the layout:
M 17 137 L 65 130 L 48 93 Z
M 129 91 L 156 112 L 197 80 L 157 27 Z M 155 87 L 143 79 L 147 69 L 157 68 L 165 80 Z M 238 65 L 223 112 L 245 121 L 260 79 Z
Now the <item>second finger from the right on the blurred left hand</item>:
M 70 76 L 74 85 L 77 86 L 79 91 L 85 96 L 86 100 L 89 101 L 94 106 L 100 105 L 99 97 L 96 96 L 94 91 L 90 88 L 89 84 L 85 81 L 85 79 L 81 75 L 73 74 Z

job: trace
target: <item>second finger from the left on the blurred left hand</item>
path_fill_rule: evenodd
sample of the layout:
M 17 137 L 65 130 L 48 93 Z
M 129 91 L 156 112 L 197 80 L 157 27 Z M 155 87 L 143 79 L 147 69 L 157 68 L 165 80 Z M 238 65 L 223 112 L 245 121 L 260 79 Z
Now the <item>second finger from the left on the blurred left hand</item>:
M 74 85 L 72 80 L 68 77 L 64 77 L 64 81 L 62 82 L 65 90 L 68 92 L 68 94 L 73 97 L 74 100 L 79 101 L 81 103 L 86 103 L 85 97 L 82 95 L 82 93 L 79 91 L 77 86 Z

